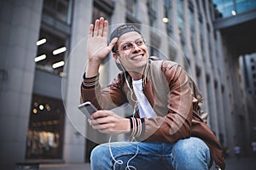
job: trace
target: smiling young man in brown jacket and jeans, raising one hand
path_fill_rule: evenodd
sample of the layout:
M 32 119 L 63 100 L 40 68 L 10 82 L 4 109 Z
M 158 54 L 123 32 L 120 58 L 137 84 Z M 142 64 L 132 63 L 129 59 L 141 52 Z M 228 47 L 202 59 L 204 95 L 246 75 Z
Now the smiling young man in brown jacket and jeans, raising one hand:
M 199 170 L 209 169 L 212 158 L 225 168 L 218 140 L 196 115 L 201 101 L 195 98 L 186 72 L 172 61 L 158 62 L 160 66 L 151 61 L 135 26 L 119 26 L 108 44 L 108 21 L 100 18 L 90 25 L 87 50 L 81 98 L 99 110 L 91 115 L 90 126 L 100 133 L 131 137 L 131 142 L 98 145 L 90 157 L 92 170 Z M 99 66 L 111 50 L 123 72 L 102 89 Z M 110 111 L 125 103 L 134 108 L 130 118 Z

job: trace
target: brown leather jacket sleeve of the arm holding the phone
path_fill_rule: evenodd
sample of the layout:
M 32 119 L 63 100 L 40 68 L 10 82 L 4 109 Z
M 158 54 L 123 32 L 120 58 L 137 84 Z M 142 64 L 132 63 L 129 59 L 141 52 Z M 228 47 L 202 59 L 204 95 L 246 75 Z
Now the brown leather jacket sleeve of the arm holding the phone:
M 189 77 L 177 64 L 164 62 L 162 71 L 169 86 L 167 114 L 145 118 L 143 133 L 137 138 L 139 140 L 175 142 L 191 135 L 193 105 Z

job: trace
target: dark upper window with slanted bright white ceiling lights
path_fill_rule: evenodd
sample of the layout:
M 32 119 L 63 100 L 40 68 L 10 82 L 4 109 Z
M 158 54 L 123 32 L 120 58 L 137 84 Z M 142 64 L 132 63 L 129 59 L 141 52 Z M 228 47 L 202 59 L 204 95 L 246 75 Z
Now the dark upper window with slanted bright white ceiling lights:
M 63 76 L 69 48 L 72 7 L 73 0 L 44 0 L 42 14 L 44 17 L 37 42 L 38 54 L 35 57 L 37 69 Z M 54 22 L 45 23 L 46 19 Z M 61 27 L 56 24 L 57 22 L 62 24 Z M 66 29 L 61 30 L 63 27 Z

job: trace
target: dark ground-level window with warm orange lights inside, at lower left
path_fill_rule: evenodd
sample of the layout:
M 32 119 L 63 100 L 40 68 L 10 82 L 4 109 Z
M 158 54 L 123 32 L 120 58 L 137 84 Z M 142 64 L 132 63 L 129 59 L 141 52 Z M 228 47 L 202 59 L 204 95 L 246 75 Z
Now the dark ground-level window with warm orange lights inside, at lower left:
M 33 94 L 26 159 L 61 159 L 65 112 L 61 99 Z

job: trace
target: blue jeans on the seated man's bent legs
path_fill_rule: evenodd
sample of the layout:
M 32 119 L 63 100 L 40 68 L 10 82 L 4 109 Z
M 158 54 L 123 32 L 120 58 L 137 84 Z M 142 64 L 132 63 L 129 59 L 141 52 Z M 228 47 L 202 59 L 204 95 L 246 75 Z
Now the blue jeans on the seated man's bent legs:
M 114 142 L 110 146 L 100 144 L 92 150 L 91 170 L 206 170 L 212 166 L 207 144 L 194 137 L 176 143 Z

